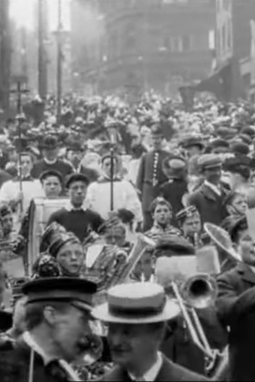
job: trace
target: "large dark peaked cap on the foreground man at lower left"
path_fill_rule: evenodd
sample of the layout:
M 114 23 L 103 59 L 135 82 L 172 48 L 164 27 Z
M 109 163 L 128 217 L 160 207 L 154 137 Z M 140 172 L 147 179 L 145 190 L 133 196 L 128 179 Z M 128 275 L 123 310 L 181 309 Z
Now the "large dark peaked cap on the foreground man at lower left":
M 92 308 L 93 295 L 97 285 L 91 281 L 72 277 L 39 278 L 22 287 L 28 296 L 28 304 L 47 301 L 68 301 L 79 309 Z

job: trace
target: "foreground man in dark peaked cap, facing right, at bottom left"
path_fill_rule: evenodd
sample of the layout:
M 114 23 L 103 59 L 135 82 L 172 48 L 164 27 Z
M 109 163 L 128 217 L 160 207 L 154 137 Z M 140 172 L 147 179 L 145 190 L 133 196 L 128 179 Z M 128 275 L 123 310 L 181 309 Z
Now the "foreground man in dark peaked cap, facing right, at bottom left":
M 24 284 L 25 331 L 13 348 L 0 349 L 0 380 L 80 380 L 70 366 L 90 348 L 96 284 L 78 278 L 35 279 Z

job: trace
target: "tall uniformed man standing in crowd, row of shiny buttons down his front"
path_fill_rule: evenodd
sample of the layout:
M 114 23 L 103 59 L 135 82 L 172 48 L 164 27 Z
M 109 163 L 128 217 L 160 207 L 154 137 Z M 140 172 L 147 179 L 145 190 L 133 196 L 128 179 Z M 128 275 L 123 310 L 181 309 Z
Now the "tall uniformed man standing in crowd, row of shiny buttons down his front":
M 169 152 L 162 150 L 164 136 L 159 125 L 151 127 L 151 139 L 153 150 L 141 157 L 137 175 L 137 190 L 143 209 L 143 231 L 149 230 L 152 226 L 150 205 L 152 200 L 160 195 L 160 186 L 167 181 L 162 163 L 169 156 Z

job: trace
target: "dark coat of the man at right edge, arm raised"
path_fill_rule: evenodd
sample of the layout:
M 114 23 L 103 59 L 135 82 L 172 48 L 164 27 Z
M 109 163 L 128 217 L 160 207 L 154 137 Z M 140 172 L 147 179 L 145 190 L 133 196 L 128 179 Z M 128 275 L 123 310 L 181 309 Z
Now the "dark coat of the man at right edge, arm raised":
M 230 326 L 230 380 L 255 380 L 255 274 L 245 264 L 218 277 L 216 307 Z

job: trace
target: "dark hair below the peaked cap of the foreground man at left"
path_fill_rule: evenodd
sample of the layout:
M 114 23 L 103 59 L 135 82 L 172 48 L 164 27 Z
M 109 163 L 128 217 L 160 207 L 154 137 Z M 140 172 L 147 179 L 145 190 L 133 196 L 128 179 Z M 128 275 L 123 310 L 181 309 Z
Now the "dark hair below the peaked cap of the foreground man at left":
M 65 312 L 68 306 L 68 300 L 28 302 L 25 307 L 25 325 L 29 331 L 39 326 L 43 322 L 43 312 L 46 307 L 53 307 L 58 312 Z

